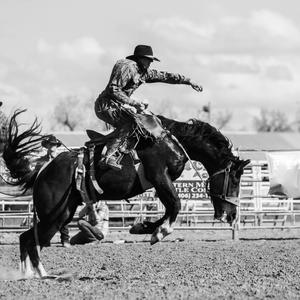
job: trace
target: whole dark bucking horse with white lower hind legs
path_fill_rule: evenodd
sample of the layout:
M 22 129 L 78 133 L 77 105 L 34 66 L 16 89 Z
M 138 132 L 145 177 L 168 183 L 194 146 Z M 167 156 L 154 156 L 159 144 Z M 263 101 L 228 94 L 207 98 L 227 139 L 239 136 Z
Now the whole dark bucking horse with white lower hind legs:
M 21 112 L 16 111 L 10 119 L 3 158 L 15 184 L 20 185 L 24 191 L 33 188 L 33 201 L 39 222 L 20 235 L 21 268 L 25 276 L 32 276 L 32 264 L 34 272 L 43 277 L 47 273 L 40 262 L 37 242 L 39 241 L 41 248 L 48 243 L 63 225 L 72 220 L 77 206 L 82 203 L 74 176 L 78 152 L 59 154 L 37 176 L 30 169 L 28 155 L 37 150 L 40 127 L 34 122 L 29 129 L 19 133 L 16 118 Z M 172 232 L 181 208 L 172 182 L 183 172 L 187 155 L 192 160 L 201 162 L 210 176 L 209 193 L 215 218 L 233 222 L 240 178 L 249 160 L 240 160 L 235 156 L 229 140 L 207 123 L 194 120 L 189 124 L 162 116 L 158 118 L 167 133 L 158 140 L 141 138 L 136 150 L 144 166 L 145 178 L 155 188 L 166 210 L 164 216 L 156 222 L 136 224 L 131 233 L 151 233 L 151 244 L 154 244 Z M 90 184 L 90 176 L 86 176 L 87 186 L 90 187 L 88 192 L 96 193 L 97 200 L 127 199 L 143 193 L 145 187 L 141 184 L 130 155 L 124 156 L 121 171 L 103 169 L 98 164 L 102 149 L 103 145 L 95 147 L 94 175 L 103 193 L 97 194 Z M 90 164 L 86 159 L 84 164 L 89 173 Z

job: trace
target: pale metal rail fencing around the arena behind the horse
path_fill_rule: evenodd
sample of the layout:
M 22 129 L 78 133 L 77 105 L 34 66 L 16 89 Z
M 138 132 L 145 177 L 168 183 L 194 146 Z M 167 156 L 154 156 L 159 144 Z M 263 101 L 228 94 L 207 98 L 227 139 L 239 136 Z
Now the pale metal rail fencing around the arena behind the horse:
M 240 206 L 237 221 L 229 226 L 213 220 L 214 210 L 207 198 L 181 199 L 177 230 L 231 230 L 237 238 L 239 230 L 300 228 L 300 200 L 268 195 L 269 173 L 266 161 L 252 160 L 241 180 Z M 153 190 L 130 199 L 107 201 L 110 208 L 110 229 L 128 229 L 133 223 L 154 220 L 164 208 Z M 0 232 L 21 232 L 32 224 L 31 196 L 0 197 Z M 76 228 L 78 208 L 70 227 Z

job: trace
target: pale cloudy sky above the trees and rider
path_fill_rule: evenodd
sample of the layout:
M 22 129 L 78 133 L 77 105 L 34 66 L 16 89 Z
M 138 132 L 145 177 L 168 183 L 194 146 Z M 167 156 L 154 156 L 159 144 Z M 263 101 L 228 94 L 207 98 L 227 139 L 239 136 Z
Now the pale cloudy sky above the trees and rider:
M 210 103 L 213 113 L 233 114 L 232 131 L 252 130 L 261 108 L 293 120 L 299 15 L 296 0 L 0 0 L 2 108 L 27 108 L 47 129 L 58 101 L 96 98 L 114 63 L 146 44 L 161 60 L 152 68 L 204 89 L 145 84 L 134 97 L 154 113 L 167 105 L 183 121 Z

